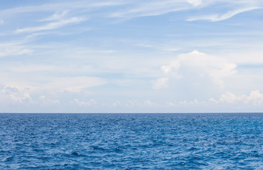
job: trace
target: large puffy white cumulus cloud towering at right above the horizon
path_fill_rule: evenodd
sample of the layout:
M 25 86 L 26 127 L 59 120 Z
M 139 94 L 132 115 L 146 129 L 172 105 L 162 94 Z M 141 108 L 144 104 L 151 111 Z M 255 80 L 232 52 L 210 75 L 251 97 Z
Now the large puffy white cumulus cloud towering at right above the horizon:
M 179 55 L 168 65 L 161 66 L 161 70 L 167 77 L 176 79 L 192 79 L 192 83 L 200 83 L 205 79 L 211 79 L 213 83 L 223 88 L 223 79 L 235 74 L 236 64 L 227 62 L 222 57 L 206 55 L 205 53 L 194 50 L 187 54 Z M 168 79 L 158 79 L 157 82 L 167 83 Z M 166 85 L 165 85 L 166 86 Z

